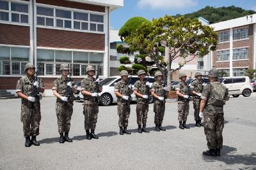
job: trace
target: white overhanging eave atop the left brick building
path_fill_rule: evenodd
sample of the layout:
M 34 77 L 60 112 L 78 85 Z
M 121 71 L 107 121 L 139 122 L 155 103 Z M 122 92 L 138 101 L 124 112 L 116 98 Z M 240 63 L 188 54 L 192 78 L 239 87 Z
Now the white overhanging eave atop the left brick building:
M 77 3 L 88 3 L 88 4 L 95 4 L 100 6 L 109 6 L 109 10 L 116 10 L 124 6 L 124 0 L 68 0 L 74 1 Z

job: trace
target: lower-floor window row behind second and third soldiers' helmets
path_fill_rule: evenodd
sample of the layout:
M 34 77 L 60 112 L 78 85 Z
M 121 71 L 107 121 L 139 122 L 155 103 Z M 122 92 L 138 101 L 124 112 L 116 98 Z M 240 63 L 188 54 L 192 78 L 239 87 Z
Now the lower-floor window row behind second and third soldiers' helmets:
M 99 75 L 103 75 L 103 60 L 103 53 L 45 49 L 37 50 L 39 75 L 60 75 L 60 65 L 63 62 L 70 65 L 73 76 L 84 76 L 88 64 L 99 70 Z

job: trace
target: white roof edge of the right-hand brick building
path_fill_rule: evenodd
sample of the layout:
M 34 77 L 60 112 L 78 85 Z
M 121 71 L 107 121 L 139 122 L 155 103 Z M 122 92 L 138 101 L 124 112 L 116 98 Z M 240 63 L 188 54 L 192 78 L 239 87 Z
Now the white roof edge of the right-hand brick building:
M 210 24 L 211 27 L 214 27 L 214 31 L 221 31 L 225 29 L 230 29 L 234 27 L 241 27 L 243 25 L 250 25 L 256 23 L 256 14 L 247 15 L 241 18 L 235 18 L 232 20 L 226 20 L 223 22 L 218 22 L 216 24 Z

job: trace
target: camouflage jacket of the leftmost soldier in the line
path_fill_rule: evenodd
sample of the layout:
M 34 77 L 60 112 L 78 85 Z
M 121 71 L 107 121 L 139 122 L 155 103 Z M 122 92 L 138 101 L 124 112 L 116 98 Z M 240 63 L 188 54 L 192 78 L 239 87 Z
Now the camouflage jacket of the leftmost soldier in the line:
M 39 87 L 44 87 L 44 84 L 40 78 L 38 78 Z M 33 78 L 29 79 L 28 76 L 24 76 L 17 81 L 16 92 L 22 92 L 26 96 L 30 96 L 33 87 Z M 39 102 L 39 99 L 36 99 Z M 21 98 L 21 103 L 28 103 L 28 100 Z

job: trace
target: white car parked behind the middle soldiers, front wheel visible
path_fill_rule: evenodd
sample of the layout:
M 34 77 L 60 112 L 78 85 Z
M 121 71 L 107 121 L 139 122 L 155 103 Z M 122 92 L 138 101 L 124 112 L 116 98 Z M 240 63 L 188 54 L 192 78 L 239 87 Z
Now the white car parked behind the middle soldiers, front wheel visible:
M 139 77 L 129 76 L 129 78 L 131 78 L 131 84 L 133 88 L 134 83 L 137 80 L 139 80 Z M 128 81 L 129 81 L 129 78 L 128 78 Z M 145 79 L 147 80 L 147 77 Z M 115 83 L 117 83 L 120 80 L 121 80 L 120 76 L 111 76 L 100 81 L 100 83 L 102 84 L 102 92 L 99 93 L 100 104 L 102 104 L 103 106 L 109 106 L 110 104 L 115 103 L 117 101 L 117 98 L 114 92 L 114 87 L 115 87 Z M 154 83 L 155 80 L 154 80 L 154 77 L 149 76 L 147 81 L 149 81 L 150 85 L 152 85 L 152 83 Z M 132 101 L 136 100 L 134 93 L 131 94 L 131 97 L 132 97 Z M 153 103 L 152 96 L 150 95 L 149 97 L 150 97 L 149 103 Z M 81 92 L 79 93 L 79 98 L 81 101 L 83 101 L 83 95 L 81 94 Z

